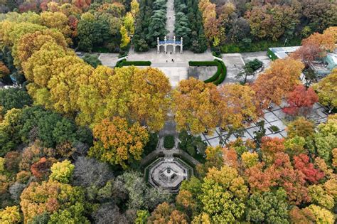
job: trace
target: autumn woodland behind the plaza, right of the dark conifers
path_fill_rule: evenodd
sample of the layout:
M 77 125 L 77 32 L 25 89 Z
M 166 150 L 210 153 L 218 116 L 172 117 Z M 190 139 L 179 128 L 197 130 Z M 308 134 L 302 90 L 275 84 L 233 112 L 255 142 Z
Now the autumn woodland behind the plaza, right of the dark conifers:
M 329 0 L 200 0 L 199 9 L 205 36 L 223 53 L 267 50 L 286 39 L 298 45 L 301 38 L 337 25 L 337 4 Z

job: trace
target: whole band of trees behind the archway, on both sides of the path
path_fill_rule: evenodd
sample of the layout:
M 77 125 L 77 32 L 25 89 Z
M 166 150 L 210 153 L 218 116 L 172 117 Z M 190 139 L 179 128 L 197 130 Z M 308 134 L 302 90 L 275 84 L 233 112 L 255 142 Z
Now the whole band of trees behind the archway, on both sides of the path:
M 0 13 L 28 12 L 31 16 L 20 16 L 21 21 L 59 26 L 73 46 L 85 51 L 124 53 L 131 41 L 135 50 L 146 51 L 167 33 L 165 0 L 3 1 Z M 231 53 L 298 45 L 301 38 L 337 25 L 337 4 L 329 0 L 176 0 L 174 6 L 176 36 L 196 53 L 206 46 Z M 16 20 L 18 14 L 1 14 L 4 18 Z

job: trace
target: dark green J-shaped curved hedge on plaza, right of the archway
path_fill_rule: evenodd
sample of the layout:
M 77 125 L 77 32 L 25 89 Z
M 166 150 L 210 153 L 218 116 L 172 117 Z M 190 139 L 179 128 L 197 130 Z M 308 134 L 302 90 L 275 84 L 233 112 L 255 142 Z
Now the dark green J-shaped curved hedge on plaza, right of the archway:
M 225 63 L 222 60 L 215 59 L 213 61 L 189 61 L 188 65 L 190 66 L 217 66 L 218 69 L 216 73 L 205 80 L 204 82 L 213 82 L 215 85 L 219 85 L 223 80 L 225 80 L 227 75 L 227 70 Z

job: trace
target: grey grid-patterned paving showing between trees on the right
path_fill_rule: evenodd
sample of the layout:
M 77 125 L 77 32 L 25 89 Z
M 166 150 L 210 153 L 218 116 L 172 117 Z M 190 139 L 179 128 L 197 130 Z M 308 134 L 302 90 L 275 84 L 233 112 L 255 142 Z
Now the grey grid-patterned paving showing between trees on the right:
M 267 137 L 287 137 L 287 132 L 285 130 L 285 128 L 287 127 L 287 122 L 285 119 L 286 114 L 282 111 L 282 107 L 284 106 L 285 104 L 281 105 L 281 107 L 273 105 L 272 110 L 264 110 L 264 118 L 260 118 L 257 120 L 257 122 L 260 122 L 262 119 L 264 120 L 264 128 L 266 129 Z M 326 110 L 326 107 L 323 107 L 321 104 L 316 103 L 308 119 L 313 120 L 315 124 L 326 122 L 328 116 L 323 113 L 324 110 Z M 257 122 L 250 123 L 249 126 L 245 129 L 245 131 L 243 132 L 244 134 L 241 137 L 243 141 L 247 139 L 253 139 L 253 137 L 255 136 L 254 132 L 257 132 L 259 130 L 259 128 L 257 127 Z M 280 132 L 277 134 L 273 134 L 268 129 L 268 127 L 271 126 L 277 126 Z M 231 134 L 228 138 L 228 141 L 235 141 L 235 139 L 237 139 L 235 135 L 236 134 Z M 225 139 L 228 137 L 228 132 L 221 132 L 220 128 L 217 127 L 212 135 L 200 134 L 200 137 L 209 146 L 218 146 L 221 138 Z

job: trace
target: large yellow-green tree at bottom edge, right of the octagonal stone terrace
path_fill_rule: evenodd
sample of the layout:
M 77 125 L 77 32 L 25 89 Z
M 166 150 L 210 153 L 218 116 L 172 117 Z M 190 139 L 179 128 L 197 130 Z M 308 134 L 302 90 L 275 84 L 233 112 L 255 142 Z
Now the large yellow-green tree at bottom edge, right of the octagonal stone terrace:
M 240 220 L 245 210 L 248 188 L 237 170 L 229 166 L 208 169 L 198 196 L 203 212 L 215 223 Z

